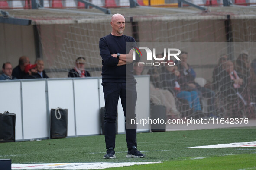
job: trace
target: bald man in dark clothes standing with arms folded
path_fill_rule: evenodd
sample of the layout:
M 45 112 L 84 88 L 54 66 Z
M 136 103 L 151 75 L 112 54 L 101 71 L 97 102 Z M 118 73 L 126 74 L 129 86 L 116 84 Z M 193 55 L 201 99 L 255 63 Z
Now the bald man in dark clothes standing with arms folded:
M 139 61 L 139 56 L 133 61 L 133 47 L 136 41 L 130 36 L 123 35 L 125 18 L 114 14 L 110 25 L 112 32 L 100 38 L 100 56 L 102 57 L 102 86 L 105 99 L 105 143 L 107 153 L 103 158 L 113 159 L 115 155 L 115 139 L 117 119 L 117 104 L 119 97 L 126 118 L 126 143 L 128 153 L 126 158 L 146 157 L 137 150 L 136 125 L 127 127 L 131 119 L 136 118 L 135 106 L 137 100 L 136 80 L 133 76 L 133 62 Z M 126 49 L 126 42 L 128 49 Z M 129 51 L 126 53 L 126 51 Z

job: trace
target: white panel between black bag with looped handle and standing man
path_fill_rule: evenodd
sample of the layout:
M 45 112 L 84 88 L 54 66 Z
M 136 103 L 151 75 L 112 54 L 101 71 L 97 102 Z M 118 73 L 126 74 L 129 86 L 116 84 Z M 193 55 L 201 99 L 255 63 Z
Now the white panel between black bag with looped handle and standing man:
M 77 135 L 100 134 L 98 79 L 75 79 L 74 89 Z

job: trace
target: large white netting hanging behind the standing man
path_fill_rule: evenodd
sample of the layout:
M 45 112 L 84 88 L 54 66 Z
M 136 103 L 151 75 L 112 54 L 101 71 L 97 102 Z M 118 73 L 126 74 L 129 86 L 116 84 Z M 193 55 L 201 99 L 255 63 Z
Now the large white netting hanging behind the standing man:
M 175 100 L 177 109 L 169 109 L 169 113 L 167 113 L 169 116 L 256 116 L 254 108 L 256 102 L 255 85 L 253 86 L 253 83 L 249 82 L 253 76 L 253 67 L 249 67 L 249 65 L 256 58 L 254 43 L 256 41 L 256 20 L 253 17 L 238 18 L 234 15 L 230 16 L 229 19 L 225 13 L 211 13 L 211 15 L 180 14 L 161 17 L 133 16 L 133 20 L 131 20 L 128 16 L 126 16 L 126 35 L 133 36 L 137 42 L 154 42 L 157 54 L 163 52 L 164 47 L 161 42 L 169 42 L 170 46 L 188 52 L 188 64 L 196 72 L 196 76 L 190 78 L 189 81 L 197 82 L 198 88 L 205 88 L 201 92 L 197 91 L 197 99 L 191 93 L 194 90 L 184 88 L 190 82 L 177 78 L 181 87 L 180 90 L 190 92 L 191 101 L 189 101 L 185 94 L 182 96 L 173 90 L 175 83 L 174 86 L 172 86 L 173 82 L 172 85 L 164 85 L 166 72 L 158 66 L 157 69 L 159 70 L 156 74 L 160 78 L 160 85 L 154 85 L 154 88 L 168 90 Z M 51 22 L 40 24 L 40 21 L 36 22 L 42 43 L 45 68 L 49 77 L 67 77 L 68 70 L 74 68 L 75 60 L 78 57 L 85 58 L 85 69 L 90 72 L 91 76 L 101 76 L 102 59 L 99 53 L 99 40 L 111 32 L 110 16 L 104 19 L 100 19 L 100 17 L 87 19 L 86 21 L 81 19 L 71 24 L 51 24 Z M 233 41 L 233 43 L 227 41 Z M 243 63 L 238 66 L 237 58 L 243 50 L 248 53 L 249 58 L 246 62 L 250 64 Z M 233 80 L 231 79 L 232 76 L 224 74 L 226 69 L 218 65 L 221 54 L 227 54 L 228 59 L 234 63 L 237 72 L 239 72 L 239 67 L 242 67 L 243 71 L 247 70 L 245 72 L 250 72 L 250 74 L 246 74 L 246 78 L 243 78 L 244 85 L 240 85 L 242 91 L 237 91 L 235 88 L 235 98 L 227 98 L 229 95 L 227 92 L 230 91 L 228 83 Z M 141 62 L 145 62 L 145 58 Z M 176 69 L 183 74 L 182 67 L 179 68 L 178 63 L 176 64 L 178 66 Z M 218 88 L 215 87 L 216 82 L 213 82 L 213 72 L 217 68 L 220 69 L 218 81 L 221 86 Z M 154 70 L 153 65 L 145 65 L 143 74 L 153 76 L 152 70 Z M 242 79 L 240 73 L 238 75 Z M 237 79 L 236 76 L 234 77 Z M 155 80 L 151 80 L 154 84 Z M 159 96 L 151 95 L 151 97 L 152 104 L 166 105 L 166 101 L 159 100 Z M 158 99 L 155 100 L 155 97 Z M 196 100 L 198 101 L 194 106 Z M 169 102 L 167 101 L 167 103 Z M 198 104 L 199 106 L 195 109 Z

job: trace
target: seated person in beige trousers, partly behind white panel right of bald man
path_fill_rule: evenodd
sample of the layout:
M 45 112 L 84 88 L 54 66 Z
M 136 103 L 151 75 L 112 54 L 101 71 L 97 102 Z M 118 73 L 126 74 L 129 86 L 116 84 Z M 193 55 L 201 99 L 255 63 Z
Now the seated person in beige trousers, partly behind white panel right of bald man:
M 144 65 L 139 65 L 137 62 L 134 63 L 134 75 L 142 75 L 143 69 Z M 153 104 L 164 105 L 166 107 L 166 115 L 168 118 L 176 118 L 176 116 L 180 116 L 180 112 L 177 110 L 175 105 L 175 98 L 170 91 L 155 88 L 152 82 L 150 82 L 149 86 L 151 95 L 150 99 Z

